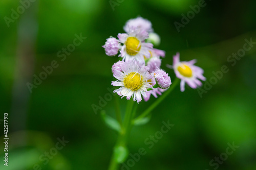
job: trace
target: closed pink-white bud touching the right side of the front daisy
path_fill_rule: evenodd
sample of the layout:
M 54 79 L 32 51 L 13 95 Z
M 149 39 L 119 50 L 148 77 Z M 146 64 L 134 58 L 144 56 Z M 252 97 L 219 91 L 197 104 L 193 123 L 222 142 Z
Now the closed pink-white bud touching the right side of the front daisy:
M 168 76 L 168 74 L 159 68 L 152 72 L 151 75 L 155 77 L 158 87 L 162 89 L 169 88 L 172 84 L 172 81 L 170 81 L 170 77 Z

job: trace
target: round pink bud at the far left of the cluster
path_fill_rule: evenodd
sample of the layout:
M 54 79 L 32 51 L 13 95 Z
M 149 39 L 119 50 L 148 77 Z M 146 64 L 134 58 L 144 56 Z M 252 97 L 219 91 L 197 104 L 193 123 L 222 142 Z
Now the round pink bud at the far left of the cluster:
M 106 42 L 102 47 L 105 48 L 106 55 L 115 56 L 121 48 L 121 45 L 116 38 L 111 37 L 106 39 Z

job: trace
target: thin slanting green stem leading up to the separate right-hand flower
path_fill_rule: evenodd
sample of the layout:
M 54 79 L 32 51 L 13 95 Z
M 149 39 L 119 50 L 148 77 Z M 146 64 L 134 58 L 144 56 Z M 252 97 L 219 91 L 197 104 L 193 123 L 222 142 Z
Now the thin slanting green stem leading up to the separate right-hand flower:
M 139 115 L 138 117 L 135 118 L 135 120 L 137 119 L 141 119 L 143 117 L 145 117 L 147 114 L 149 114 L 153 109 L 155 109 L 155 107 L 157 107 L 165 98 L 166 96 L 173 91 L 173 89 L 177 86 L 177 84 L 179 84 L 180 79 L 176 78 L 174 83 L 170 86 L 170 88 L 168 90 L 166 90 L 163 95 L 161 95 L 156 101 L 155 103 L 153 103 L 150 107 L 148 107 L 141 115 Z

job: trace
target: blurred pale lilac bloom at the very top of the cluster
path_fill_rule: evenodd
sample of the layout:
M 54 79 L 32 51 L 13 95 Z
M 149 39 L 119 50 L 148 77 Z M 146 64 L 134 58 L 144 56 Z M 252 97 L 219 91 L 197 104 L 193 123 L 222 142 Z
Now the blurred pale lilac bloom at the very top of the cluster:
M 144 31 L 146 31 L 148 33 L 153 32 L 151 21 L 149 21 L 147 19 L 144 19 L 142 17 L 137 17 L 137 18 L 134 18 L 134 19 L 129 19 L 125 23 L 125 26 L 123 27 L 123 30 L 126 33 L 129 33 L 130 28 L 132 28 L 132 27 L 138 28 L 140 30 L 144 30 Z

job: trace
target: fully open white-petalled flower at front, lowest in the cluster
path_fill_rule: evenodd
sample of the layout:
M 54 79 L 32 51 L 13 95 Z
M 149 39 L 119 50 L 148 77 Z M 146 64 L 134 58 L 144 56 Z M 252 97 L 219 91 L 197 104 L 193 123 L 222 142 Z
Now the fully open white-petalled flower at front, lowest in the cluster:
M 152 79 L 152 76 L 148 73 L 150 68 L 148 66 L 141 66 L 136 61 L 125 62 L 121 71 L 116 70 L 113 76 L 117 81 L 112 81 L 113 86 L 121 86 L 119 89 L 114 90 L 118 95 L 126 96 L 127 100 L 130 100 L 133 96 L 133 100 L 138 103 L 141 102 L 141 94 L 146 97 L 146 88 L 153 88 L 148 80 Z

